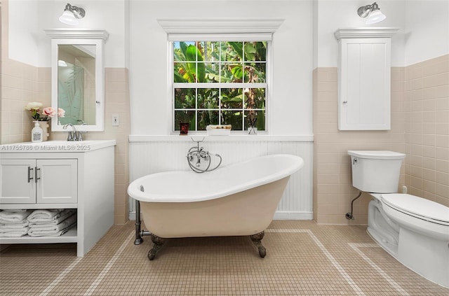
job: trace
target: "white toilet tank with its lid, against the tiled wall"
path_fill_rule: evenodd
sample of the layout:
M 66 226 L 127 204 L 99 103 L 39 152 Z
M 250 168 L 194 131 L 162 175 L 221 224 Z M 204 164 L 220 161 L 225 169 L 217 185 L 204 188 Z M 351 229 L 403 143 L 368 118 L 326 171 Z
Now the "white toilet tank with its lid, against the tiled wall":
M 349 150 L 352 185 L 364 192 L 398 192 L 403 153 L 382 150 Z

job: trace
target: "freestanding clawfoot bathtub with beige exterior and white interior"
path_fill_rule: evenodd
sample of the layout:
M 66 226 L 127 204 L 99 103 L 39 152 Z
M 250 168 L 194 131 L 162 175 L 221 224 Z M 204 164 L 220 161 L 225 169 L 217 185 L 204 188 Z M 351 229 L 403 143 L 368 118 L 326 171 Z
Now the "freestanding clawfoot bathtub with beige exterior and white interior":
M 136 241 L 142 241 L 140 211 L 154 247 L 153 260 L 165 239 L 246 236 L 266 254 L 264 230 L 290 175 L 304 165 L 295 155 L 265 155 L 220 167 L 206 174 L 166 171 L 136 179 L 128 195 L 136 199 Z M 139 233 L 138 233 L 139 232 Z

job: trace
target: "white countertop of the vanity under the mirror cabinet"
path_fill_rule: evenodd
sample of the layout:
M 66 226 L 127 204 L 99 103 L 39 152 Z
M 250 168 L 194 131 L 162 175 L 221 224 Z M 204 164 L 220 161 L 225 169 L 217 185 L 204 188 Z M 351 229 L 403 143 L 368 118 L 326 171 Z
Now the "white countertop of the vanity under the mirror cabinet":
M 0 145 L 0 153 L 83 153 L 115 144 L 115 140 L 23 142 Z

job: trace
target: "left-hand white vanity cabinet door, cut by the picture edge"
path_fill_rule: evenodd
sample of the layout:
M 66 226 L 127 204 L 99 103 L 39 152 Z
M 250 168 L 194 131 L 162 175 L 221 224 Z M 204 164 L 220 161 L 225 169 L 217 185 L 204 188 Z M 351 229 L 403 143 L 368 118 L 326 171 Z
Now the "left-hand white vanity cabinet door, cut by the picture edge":
M 36 160 L 0 160 L 0 204 L 36 203 Z

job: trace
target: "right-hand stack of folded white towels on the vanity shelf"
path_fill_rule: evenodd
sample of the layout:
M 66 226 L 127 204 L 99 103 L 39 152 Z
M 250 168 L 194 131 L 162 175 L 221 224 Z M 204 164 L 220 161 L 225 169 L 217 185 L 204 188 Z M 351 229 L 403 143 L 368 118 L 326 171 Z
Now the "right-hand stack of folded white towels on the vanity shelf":
M 76 210 L 36 210 L 27 220 L 30 237 L 58 237 L 76 225 Z

